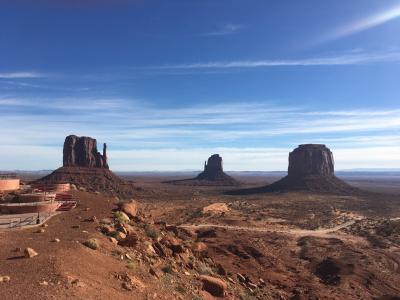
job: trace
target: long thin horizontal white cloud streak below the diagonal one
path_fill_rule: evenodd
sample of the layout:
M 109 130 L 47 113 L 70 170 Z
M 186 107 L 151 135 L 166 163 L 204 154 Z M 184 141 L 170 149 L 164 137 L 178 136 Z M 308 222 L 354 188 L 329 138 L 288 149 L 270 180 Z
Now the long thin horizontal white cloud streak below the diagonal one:
M 233 69 L 233 68 L 268 68 L 268 67 L 312 67 L 312 66 L 341 66 L 362 65 L 371 63 L 399 62 L 400 52 L 382 53 L 350 53 L 330 57 L 315 57 L 302 59 L 278 60 L 236 60 L 213 61 L 188 64 L 170 64 L 152 66 L 153 70 L 184 70 L 184 69 Z

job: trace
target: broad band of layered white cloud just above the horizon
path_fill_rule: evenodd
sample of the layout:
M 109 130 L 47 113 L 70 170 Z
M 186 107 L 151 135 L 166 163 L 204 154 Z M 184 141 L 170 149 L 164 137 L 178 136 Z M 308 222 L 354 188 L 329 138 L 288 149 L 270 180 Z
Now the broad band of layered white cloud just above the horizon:
M 284 170 L 287 153 L 310 142 L 331 147 L 340 168 L 363 162 L 385 167 L 386 157 L 400 167 L 397 108 L 310 111 L 265 101 L 163 108 L 126 99 L 41 100 L 0 99 L 2 168 L 36 168 L 38 157 L 47 155 L 41 168 L 57 167 L 63 139 L 72 133 L 109 143 L 116 170 L 196 169 L 212 152 L 224 155 L 227 169 Z M 365 155 L 356 155 L 357 163 L 351 164 L 345 157 L 356 153 L 351 149 L 364 149 Z M 365 149 L 377 151 L 374 159 L 367 157 L 372 150 Z

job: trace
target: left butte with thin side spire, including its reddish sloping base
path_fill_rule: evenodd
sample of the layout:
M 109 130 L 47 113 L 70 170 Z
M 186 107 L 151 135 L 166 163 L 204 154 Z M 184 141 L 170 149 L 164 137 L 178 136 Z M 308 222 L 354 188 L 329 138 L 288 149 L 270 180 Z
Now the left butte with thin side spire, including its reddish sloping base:
M 72 183 L 87 191 L 123 198 L 133 196 L 136 190 L 131 182 L 119 178 L 109 170 L 106 144 L 103 145 L 103 154 L 100 154 L 95 139 L 76 135 L 65 138 L 63 166 L 35 183 Z

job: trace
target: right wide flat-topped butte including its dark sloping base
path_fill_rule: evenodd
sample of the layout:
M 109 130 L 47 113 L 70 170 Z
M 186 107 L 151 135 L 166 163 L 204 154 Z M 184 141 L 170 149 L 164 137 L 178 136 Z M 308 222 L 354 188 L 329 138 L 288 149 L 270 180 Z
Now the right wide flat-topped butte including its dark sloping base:
M 348 194 L 358 189 L 335 176 L 333 154 L 329 148 L 320 144 L 304 144 L 289 153 L 288 175 L 284 178 L 268 186 L 227 193 L 244 195 L 287 191 Z

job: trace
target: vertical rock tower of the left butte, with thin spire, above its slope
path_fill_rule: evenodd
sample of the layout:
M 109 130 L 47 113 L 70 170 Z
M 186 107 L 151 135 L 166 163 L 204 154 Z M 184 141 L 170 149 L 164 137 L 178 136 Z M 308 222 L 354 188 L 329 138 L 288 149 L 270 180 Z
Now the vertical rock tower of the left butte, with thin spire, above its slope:
M 96 139 L 69 135 L 64 142 L 63 167 L 108 169 L 107 145 L 103 145 L 103 155 L 101 155 L 97 151 Z

